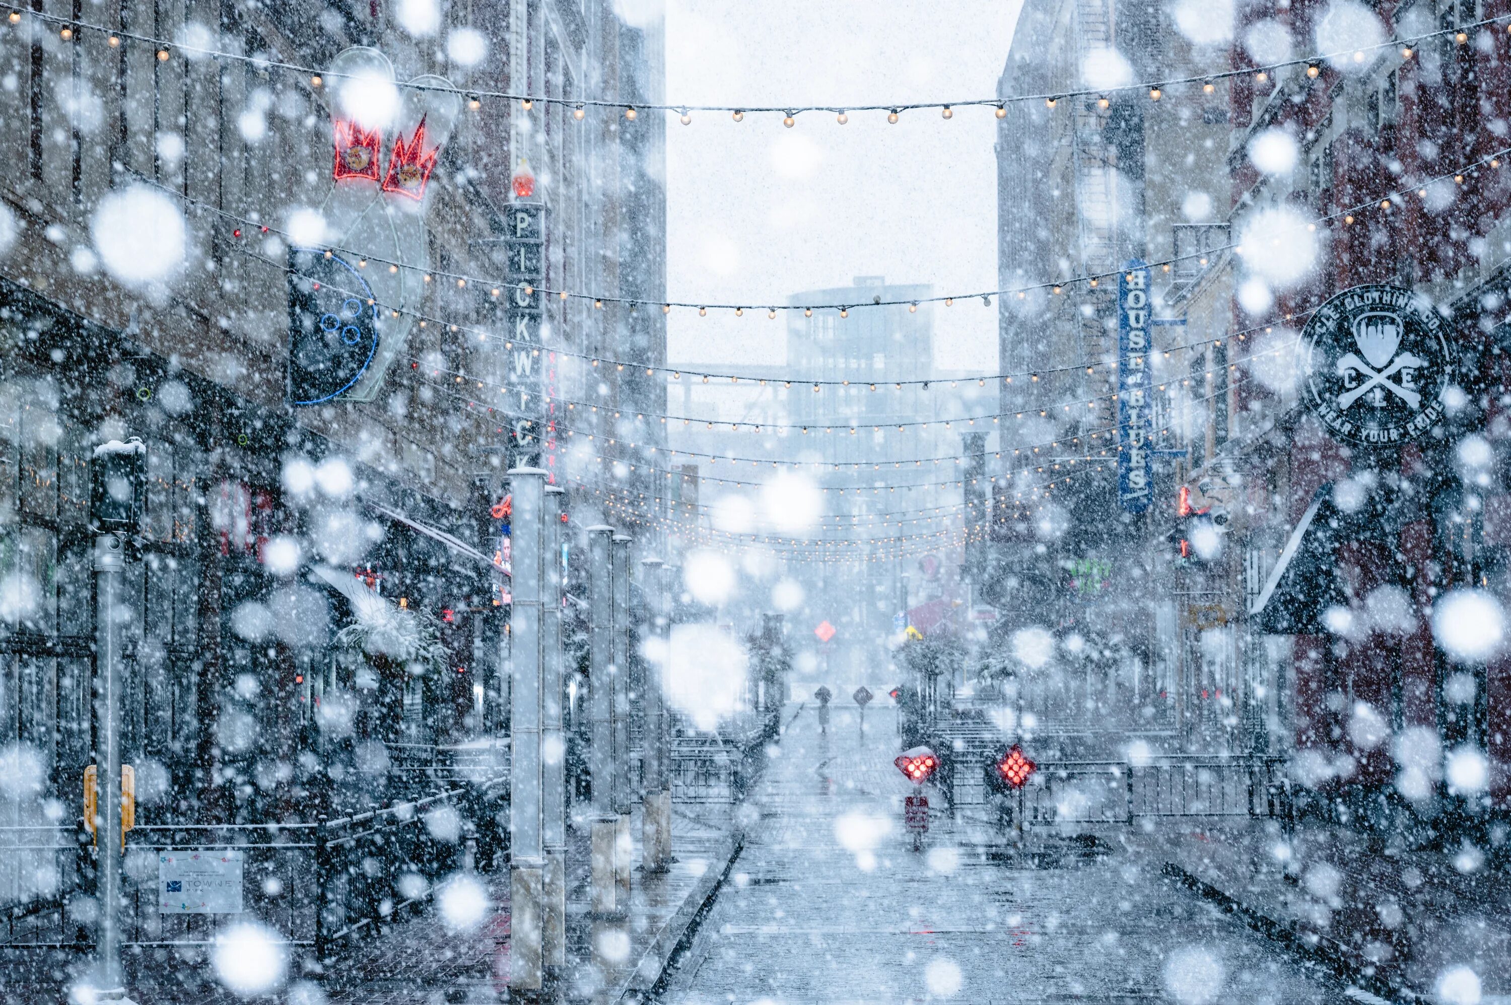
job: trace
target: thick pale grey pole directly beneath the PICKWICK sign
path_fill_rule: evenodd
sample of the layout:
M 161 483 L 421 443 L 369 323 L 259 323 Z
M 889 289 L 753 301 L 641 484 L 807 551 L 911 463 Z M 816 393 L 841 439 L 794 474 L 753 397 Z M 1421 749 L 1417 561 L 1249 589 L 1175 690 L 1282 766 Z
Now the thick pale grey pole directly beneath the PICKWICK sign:
M 545 472 L 509 470 L 514 494 L 514 653 L 509 701 L 511 991 L 539 991 L 545 848 L 541 813 L 541 651 Z

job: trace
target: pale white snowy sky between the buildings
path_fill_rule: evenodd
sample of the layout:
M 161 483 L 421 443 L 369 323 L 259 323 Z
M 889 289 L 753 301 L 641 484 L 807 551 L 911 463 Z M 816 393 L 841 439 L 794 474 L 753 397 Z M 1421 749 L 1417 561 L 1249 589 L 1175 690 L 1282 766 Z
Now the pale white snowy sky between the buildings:
M 1021 0 L 668 0 L 672 104 L 884 104 L 996 94 Z M 991 109 L 675 116 L 666 125 L 668 295 L 762 305 L 857 275 L 997 286 Z M 997 308 L 935 311 L 935 363 L 997 369 Z M 671 360 L 781 363 L 766 311 L 672 311 Z

